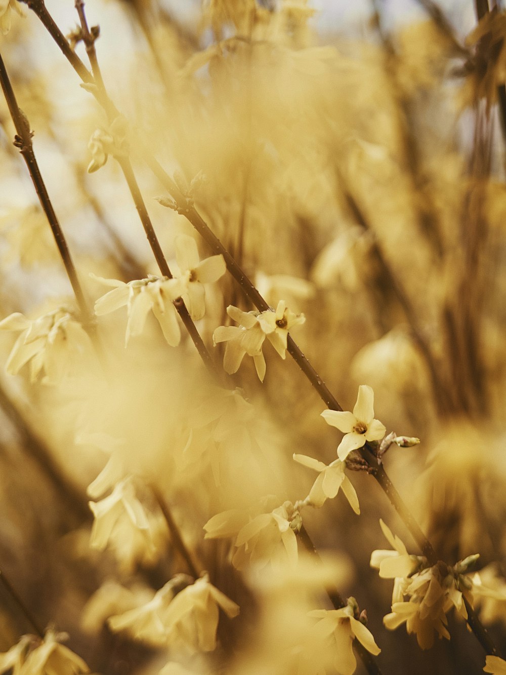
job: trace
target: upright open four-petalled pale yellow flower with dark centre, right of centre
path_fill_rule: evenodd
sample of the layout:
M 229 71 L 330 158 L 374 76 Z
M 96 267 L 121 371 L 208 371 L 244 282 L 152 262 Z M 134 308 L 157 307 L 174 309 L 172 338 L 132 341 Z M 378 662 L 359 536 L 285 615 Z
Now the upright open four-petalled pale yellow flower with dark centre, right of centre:
M 324 410 L 322 417 L 331 427 L 345 433 L 337 448 L 337 456 L 344 462 L 352 450 L 358 450 L 366 441 L 378 441 L 385 435 L 385 426 L 374 419 L 374 391 L 367 385 L 360 385 L 353 412 Z

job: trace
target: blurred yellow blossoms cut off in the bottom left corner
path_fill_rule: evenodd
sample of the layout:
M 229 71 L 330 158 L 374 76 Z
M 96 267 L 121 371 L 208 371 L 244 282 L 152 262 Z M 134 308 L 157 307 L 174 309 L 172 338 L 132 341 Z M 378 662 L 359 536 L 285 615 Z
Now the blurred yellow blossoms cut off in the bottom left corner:
M 80 675 L 90 669 L 83 659 L 68 647 L 61 645 L 65 633 L 48 630 L 41 641 L 33 635 L 24 635 L 17 645 L 0 654 L 0 672 L 13 668 L 12 675 Z

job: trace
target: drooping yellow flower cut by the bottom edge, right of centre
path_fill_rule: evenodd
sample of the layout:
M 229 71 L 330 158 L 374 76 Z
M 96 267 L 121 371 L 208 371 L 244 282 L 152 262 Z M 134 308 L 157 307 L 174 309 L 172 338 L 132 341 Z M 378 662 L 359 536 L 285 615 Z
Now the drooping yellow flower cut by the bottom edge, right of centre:
M 353 597 L 348 599 L 346 607 L 340 610 L 313 610 L 309 616 L 320 619 L 312 628 L 314 636 L 319 637 L 321 645 L 328 641 L 335 649 L 334 668 L 341 675 L 352 675 L 357 667 L 353 653 L 353 641 L 357 639 L 375 656 L 381 649 L 374 642 L 372 633 L 362 622 L 355 618 L 358 605 Z M 321 647 L 320 647 L 321 648 Z

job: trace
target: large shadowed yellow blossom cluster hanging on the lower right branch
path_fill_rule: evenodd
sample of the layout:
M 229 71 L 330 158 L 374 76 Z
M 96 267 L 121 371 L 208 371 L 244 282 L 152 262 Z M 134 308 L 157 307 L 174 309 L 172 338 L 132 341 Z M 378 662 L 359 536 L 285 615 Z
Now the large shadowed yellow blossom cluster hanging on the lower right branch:
M 394 579 L 392 612 L 383 623 L 391 630 L 405 623 L 407 632 L 416 634 L 418 645 L 430 649 L 434 631 L 440 638 L 450 638 L 446 615 L 452 607 L 463 619 L 468 618 L 466 601 L 473 606 L 473 583 L 466 572 L 478 555 L 453 567 L 442 561 L 427 567 L 425 558 L 410 555 L 399 537 L 383 521 L 380 524 L 393 550 L 372 551 L 370 564 L 382 578 Z

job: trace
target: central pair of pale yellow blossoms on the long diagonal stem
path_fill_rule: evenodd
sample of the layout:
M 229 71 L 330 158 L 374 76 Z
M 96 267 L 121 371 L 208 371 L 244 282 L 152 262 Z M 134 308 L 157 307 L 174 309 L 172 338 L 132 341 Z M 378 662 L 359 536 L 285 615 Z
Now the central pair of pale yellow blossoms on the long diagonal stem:
M 215 344 L 226 342 L 223 367 L 227 373 L 236 373 L 246 354 L 252 356 L 256 373 L 260 381 L 265 376 L 265 359 L 262 345 L 265 338 L 273 345 L 281 358 L 285 358 L 288 331 L 291 327 L 304 323 L 303 314 L 289 311 L 285 301 L 280 300 L 276 311 L 243 312 L 233 305 L 227 307 L 227 314 L 239 326 L 219 326 L 213 333 Z

